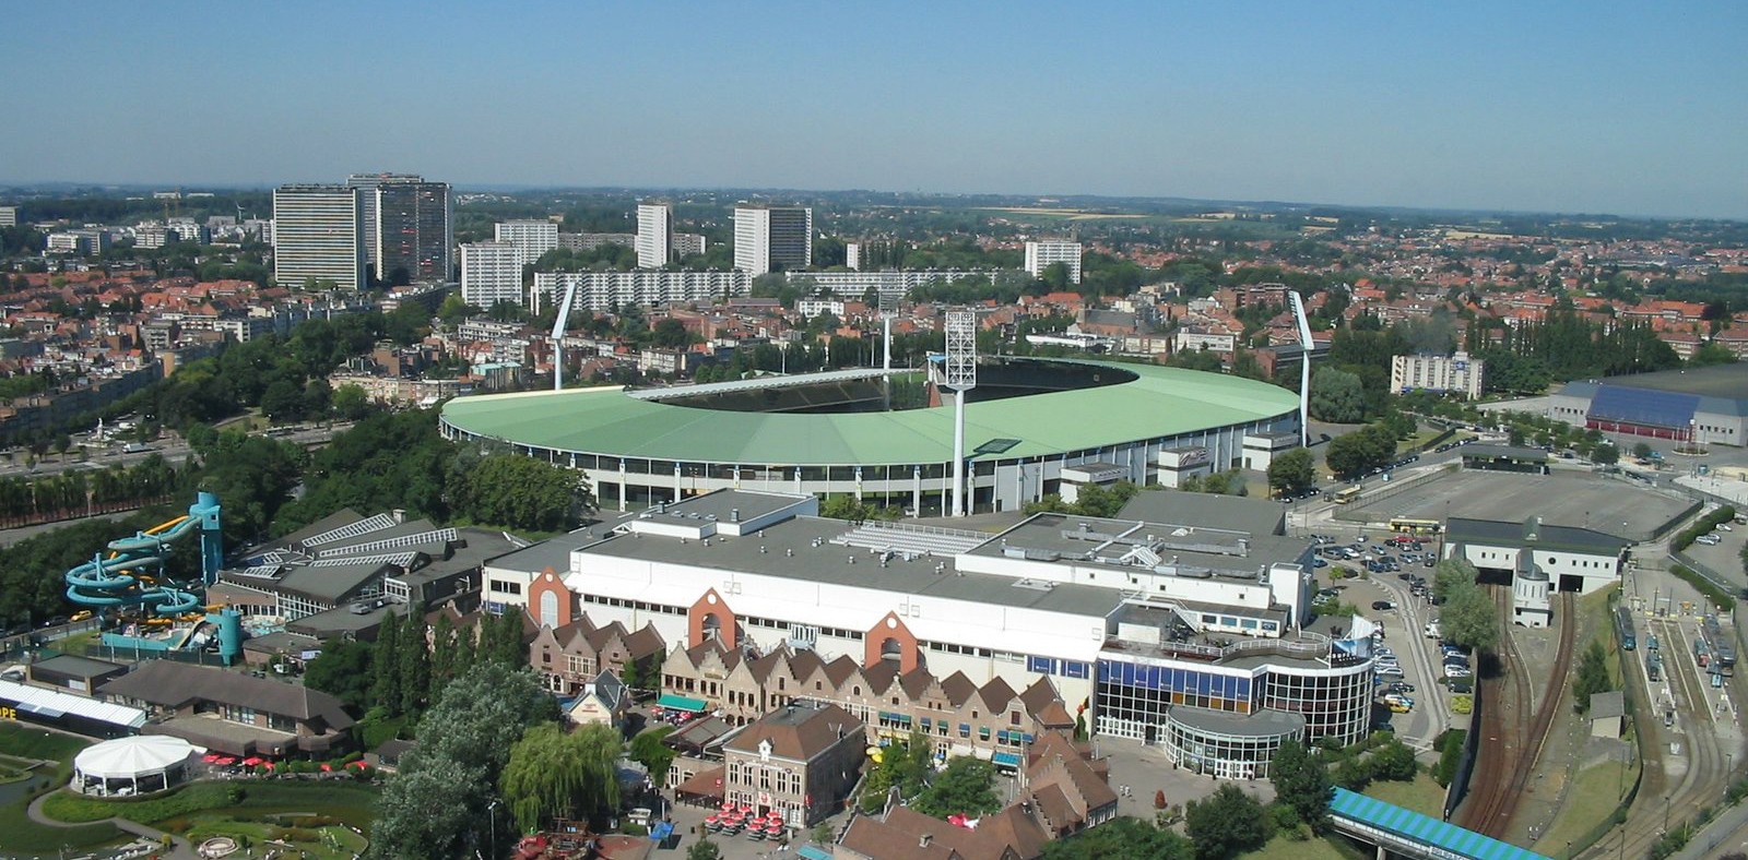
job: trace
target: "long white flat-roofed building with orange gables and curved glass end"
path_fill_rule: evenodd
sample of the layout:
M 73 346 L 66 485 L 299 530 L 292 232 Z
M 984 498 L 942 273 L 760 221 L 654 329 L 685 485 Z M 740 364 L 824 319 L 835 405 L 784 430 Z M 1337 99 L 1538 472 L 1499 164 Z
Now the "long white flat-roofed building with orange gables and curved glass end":
M 1278 528 L 1278 505 L 1231 502 L 1262 507 L 1204 521 Z M 1190 509 L 1206 512 L 1171 510 Z M 1101 732 L 1222 776 L 1259 774 L 1285 738 L 1349 743 L 1369 725 L 1370 659 L 1301 629 L 1309 540 L 1068 514 L 989 535 L 816 510 L 815 496 L 734 489 L 657 505 L 488 561 L 488 608 L 556 624 L 573 601 L 594 624 L 652 624 L 683 647 L 895 659 L 1014 689 L 1049 675 Z M 1250 741 L 1220 759 L 1194 739 L 1206 732 Z

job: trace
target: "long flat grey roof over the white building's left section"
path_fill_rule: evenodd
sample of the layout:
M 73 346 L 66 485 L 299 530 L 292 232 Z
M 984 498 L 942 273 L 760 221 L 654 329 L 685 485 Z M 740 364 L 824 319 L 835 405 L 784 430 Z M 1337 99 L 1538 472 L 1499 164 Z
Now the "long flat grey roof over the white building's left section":
M 914 554 L 911 561 L 891 556 L 881 566 L 877 552 L 830 542 L 850 528 L 841 519 L 794 517 L 748 537 L 715 537 L 708 545 L 703 540 L 682 544 L 657 535 L 617 535 L 584 552 L 1073 615 L 1106 617 L 1122 603 L 1117 589 L 1075 584 L 1023 587 L 1009 577 L 961 573 L 947 556 Z

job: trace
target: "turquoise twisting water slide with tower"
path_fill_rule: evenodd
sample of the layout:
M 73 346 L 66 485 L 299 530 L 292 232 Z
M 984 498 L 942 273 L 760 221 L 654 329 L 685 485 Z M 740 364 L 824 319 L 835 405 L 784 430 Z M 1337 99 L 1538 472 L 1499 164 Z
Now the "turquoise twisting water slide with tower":
M 201 493 L 189 512 L 131 537 L 108 542 L 101 552 L 66 572 L 66 600 L 93 608 L 133 608 L 143 615 L 171 617 L 203 610 L 191 586 L 159 582 L 170 544 L 201 533 L 201 586 L 212 584 L 224 559 L 218 535 L 218 496 Z

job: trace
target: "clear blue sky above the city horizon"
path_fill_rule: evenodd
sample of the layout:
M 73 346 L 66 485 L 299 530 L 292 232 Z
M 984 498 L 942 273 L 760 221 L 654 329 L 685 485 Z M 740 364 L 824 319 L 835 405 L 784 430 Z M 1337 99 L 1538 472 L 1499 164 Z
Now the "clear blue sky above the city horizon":
M 1748 3 L 7 3 L 0 182 L 1748 217 Z

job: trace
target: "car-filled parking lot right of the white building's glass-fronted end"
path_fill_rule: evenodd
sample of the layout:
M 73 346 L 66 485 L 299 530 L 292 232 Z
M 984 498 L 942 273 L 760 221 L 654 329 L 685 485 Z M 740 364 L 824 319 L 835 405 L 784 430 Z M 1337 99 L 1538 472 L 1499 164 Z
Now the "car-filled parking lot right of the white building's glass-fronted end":
M 1377 547 L 1384 552 L 1377 552 Z M 1446 676 L 1444 655 L 1439 652 L 1437 640 L 1425 636 L 1426 624 L 1437 621 L 1439 608 L 1432 603 L 1430 591 L 1418 591 L 1414 580 L 1405 579 L 1419 577 L 1426 580 L 1426 589 L 1430 589 L 1432 568 L 1425 566 L 1421 558 L 1404 563 L 1402 554 L 1419 552 L 1425 556 L 1432 551 L 1433 544 L 1423 544 L 1419 551 L 1402 551 L 1379 540 L 1363 545 L 1362 559 L 1341 559 L 1318 568 L 1321 589 L 1334 591 L 1341 603 L 1351 605 L 1362 617 L 1383 626 L 1379 645 L 1384 654 L 1381 655 L 1383 671 L 1379 673 L 1374 720 L 1388 724 L 1404 743 L 1419 750 L 1432 748 L 1444 729 L 1467 724 L 1467 717 L 1449 713 L 1449 690 L 1440 683 Z M 1365 570 L 1365 556 L 1370 558 L 1374 570 Z M 1395 570 L 1377 570 L 1383 559 L 1395 561 Z M 1383 566 L 1388 568 L 1388 561 Z M 1342 579 L 1334 579 L 1334 570 L 1342 572 Z M 1318 619 L 1314 629 L 1330 633 L 1332 628 L 1346 624 L 1344 617 L 1325 617 Z M 1461 675 L 1461 669 L 1454 671 Z M 1393 683 L 1405 685 L 1397 687 L 1397 690 L 1412 699 L 1412 706 L 1405 713 L 1391 713 L 1384 699 Z

